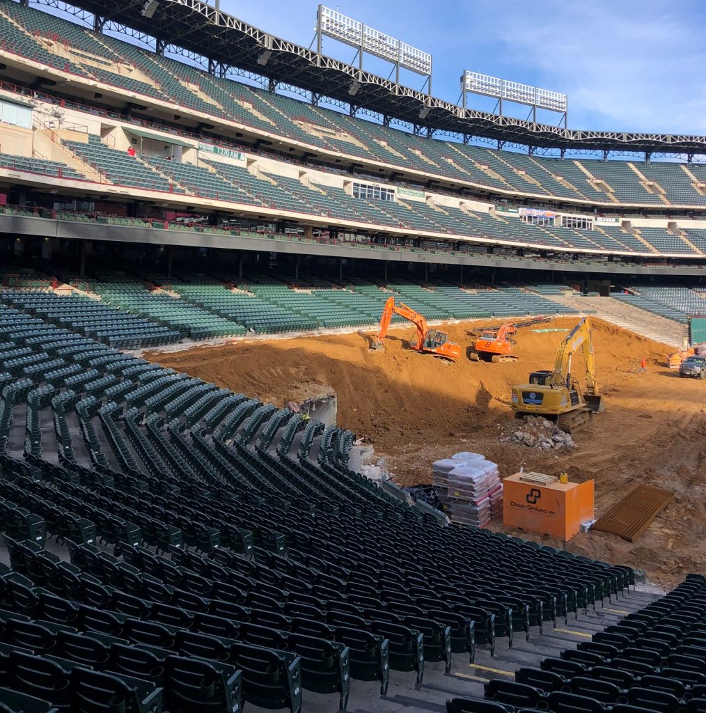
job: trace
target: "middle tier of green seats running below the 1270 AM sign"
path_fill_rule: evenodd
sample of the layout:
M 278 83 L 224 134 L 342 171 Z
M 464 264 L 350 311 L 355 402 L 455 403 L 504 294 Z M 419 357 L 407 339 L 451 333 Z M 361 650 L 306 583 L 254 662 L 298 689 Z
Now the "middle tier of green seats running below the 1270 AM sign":
M 200 198 L 215 198 L 235 204 L 265 205 L 277 210 L 309 215 L 328 215 L 344 220 L 401 228 L 416 232 L 441 233 L 446 236 L 481 237 L 510 240 L 562 250 L 618 250 L 620 252 L 662 252 L 676 255 L 695 254 L 692 245 L 665 228 L 644 227 L 635 237 L 615 226 L 596 225 L 593 230 L 576 230 L 559 225 L 532 225 L 518 217 L 476 215 L 457 207 L 419 201 L 361 200 L 342 188 L 324 186 L 311 179 L 308 184 L 275 173 L 255 177 L 245 168 L 222 162 L 202 165 L 182 163 L 159 156 L 135 158 L 108 147 L 95 135 L 87 143 L 67 141 L 66 145 L 106 180 L 118 185 L 189 193 Z M 0 155 L 0 163 L 3 156 Z M 60 163 L 22 157 L 9 157 L 5 163 L 21 170 L 37 170 L 49 175 L 81 176 Z M 150 168 L 151 167 L 151 168 Z M 154 168 L 155 170 L 151 170 Z M 108 219 L 110 222 L 110 219 Z M 146 223 L 143 223 L 147 225 Z M 698 249 L 700 236 L 693 243 Z

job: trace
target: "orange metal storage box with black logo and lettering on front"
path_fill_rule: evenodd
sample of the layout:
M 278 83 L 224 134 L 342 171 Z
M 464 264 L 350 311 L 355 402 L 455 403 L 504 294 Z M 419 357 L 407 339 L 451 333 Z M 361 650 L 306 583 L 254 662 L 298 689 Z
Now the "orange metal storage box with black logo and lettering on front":
M 542 473 L 515 473 L 503 480 L 503 523 L 571 540 L 593 520 L 593 481 L 560 483 Z

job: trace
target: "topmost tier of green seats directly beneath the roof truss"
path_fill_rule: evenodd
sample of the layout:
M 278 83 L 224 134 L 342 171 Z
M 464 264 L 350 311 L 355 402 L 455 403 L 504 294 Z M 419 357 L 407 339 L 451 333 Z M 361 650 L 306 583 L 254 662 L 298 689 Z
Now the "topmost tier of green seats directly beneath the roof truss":
M 333 165 L 354 165 L 398 180 L 431 180 L 494 195 L 578 205 L 706 207 L 702 165 L 560 160 L 426 140 L 219 78 L 11 0 L 0 3 L 0 29 L 4 36 L 0 53 L 9 60 L 6 75 L 31 75 L 40 80 L 39 86 L 51 85 L 41 81 L 51 76 L 59 96 L 78 98 L 84 104 L 118 107 L 133 116 L 167 119 L 175 125 L 180 120 L 182 125 L 198 125 L 200 118 L 202 130 L 223 138 L 257 140 L 265 147 L 284 140 L 288 145 L 280 149 L 276 143 L 277 150 L 305 153 L 309 158 L 314 154 Z M 171 111 L 175 106 L 178 115 Z M 433 123 L 428 119 L 426 123 Z M 238 127 L 248 134 L 242 135 Z M 699 137 L 687 148 L 677 148 L 669 140 L 674 150 L 700 150 Z M 581 141 L 567 145 L 583 147 Z M 639 141 L 630 145 L 633 151 L 642 148 Z

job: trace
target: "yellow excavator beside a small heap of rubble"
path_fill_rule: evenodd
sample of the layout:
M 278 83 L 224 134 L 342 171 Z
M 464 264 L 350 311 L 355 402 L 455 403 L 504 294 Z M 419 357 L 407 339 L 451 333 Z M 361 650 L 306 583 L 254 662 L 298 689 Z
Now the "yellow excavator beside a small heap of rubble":
M 578 349 L 585 360 L 583 394 L 571 375 L 571 361 Z M 516 418 L 543 416 L 556 421 L 557 426 L 568 433 L 587 426 L 593 414 L 603 411 L 603 396 L 595 379 L 593 334 L 588 317 L 581 319 L 559 345 L 553 371 L 533 371 L 528 384 L 512 387 L 512 408 Z

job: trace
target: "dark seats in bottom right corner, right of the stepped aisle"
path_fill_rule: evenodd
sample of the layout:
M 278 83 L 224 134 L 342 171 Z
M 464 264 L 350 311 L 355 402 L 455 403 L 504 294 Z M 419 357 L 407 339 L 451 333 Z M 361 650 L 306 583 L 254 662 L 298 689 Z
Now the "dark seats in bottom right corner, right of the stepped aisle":
M 706 709 L 706 579 L 687 575 L 670 593 L 580 642 L 491 679 L 484 699 L 451 699 L 447 713 L 655 712 Z

